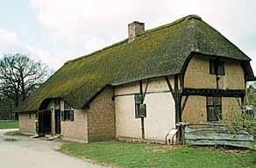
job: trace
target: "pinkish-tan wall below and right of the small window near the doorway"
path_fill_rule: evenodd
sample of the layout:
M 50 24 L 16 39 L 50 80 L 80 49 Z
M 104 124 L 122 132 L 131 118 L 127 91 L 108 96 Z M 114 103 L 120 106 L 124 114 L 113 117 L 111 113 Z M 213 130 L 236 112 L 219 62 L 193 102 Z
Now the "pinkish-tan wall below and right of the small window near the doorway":
M 61 136 L 64 139 L 88 142 L 87 113 L 74 109 L 74 121 L 61 121 Z

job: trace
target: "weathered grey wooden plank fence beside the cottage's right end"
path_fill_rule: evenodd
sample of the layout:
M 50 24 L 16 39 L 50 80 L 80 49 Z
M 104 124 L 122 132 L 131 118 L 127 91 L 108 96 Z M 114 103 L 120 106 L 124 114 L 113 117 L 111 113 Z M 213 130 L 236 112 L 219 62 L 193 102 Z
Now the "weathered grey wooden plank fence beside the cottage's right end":
M 256 150 L 252 135 L 231 134 L 218 123 L 179 123 L 181 144 L 236 146 Z

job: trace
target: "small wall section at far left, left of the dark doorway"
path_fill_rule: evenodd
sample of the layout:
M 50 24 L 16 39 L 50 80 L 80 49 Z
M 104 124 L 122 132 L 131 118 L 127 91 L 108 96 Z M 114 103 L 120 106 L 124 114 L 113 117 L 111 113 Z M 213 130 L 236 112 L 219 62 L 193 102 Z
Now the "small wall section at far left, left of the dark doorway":
M 24 134 L 35 134 L 35 119 L 35 113 L 18 113 L 19 131 Z

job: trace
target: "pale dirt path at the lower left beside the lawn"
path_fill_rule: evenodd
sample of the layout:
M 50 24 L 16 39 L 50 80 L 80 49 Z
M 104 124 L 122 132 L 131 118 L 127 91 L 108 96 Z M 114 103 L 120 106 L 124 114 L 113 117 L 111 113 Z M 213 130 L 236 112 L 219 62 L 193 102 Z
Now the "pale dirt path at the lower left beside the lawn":
M 5 137 L 0 130 L 0 168 L 102 168 L 58 151 L 60 142 L 29 137 Z

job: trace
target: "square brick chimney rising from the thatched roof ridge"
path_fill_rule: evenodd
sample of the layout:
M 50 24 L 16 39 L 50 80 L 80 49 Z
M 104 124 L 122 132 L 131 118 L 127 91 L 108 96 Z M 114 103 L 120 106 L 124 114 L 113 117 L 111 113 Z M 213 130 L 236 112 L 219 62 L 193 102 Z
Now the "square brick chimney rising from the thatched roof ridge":
M 134 21 L 128 25 L 128 42 L 131 43 L 136 36 L 145 31 L 145 24 Z

